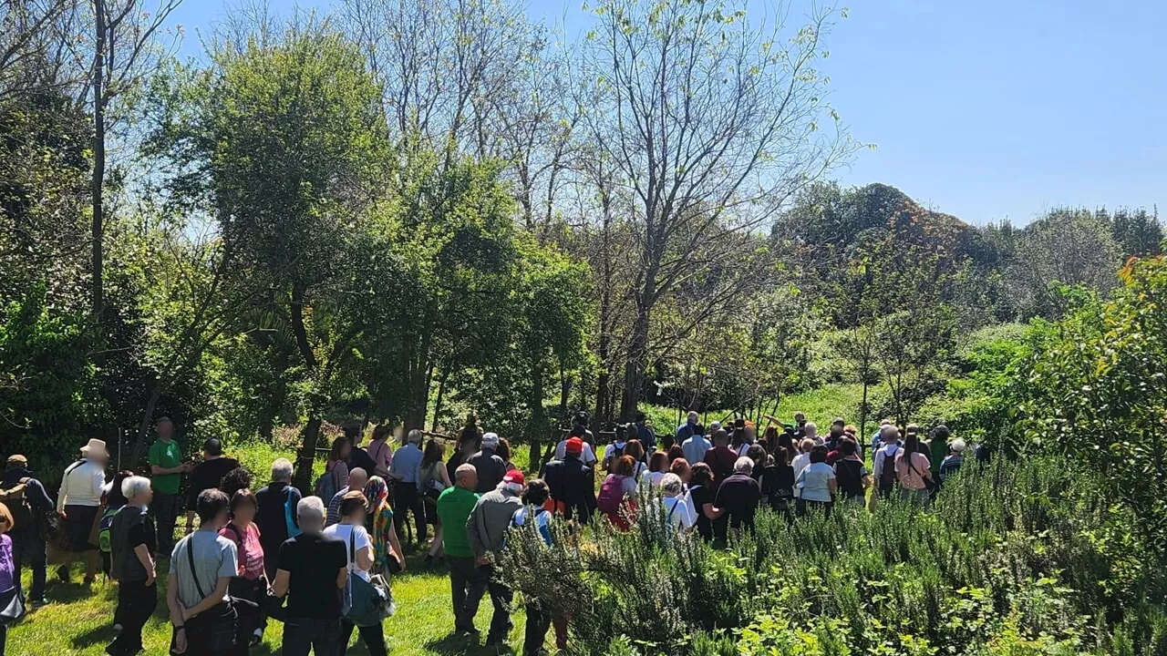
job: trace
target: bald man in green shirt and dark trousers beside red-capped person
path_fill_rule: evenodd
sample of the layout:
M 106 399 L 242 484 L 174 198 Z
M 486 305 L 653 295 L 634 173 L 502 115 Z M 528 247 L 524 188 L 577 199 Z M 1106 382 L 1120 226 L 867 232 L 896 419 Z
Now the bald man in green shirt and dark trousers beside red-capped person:
M 454 631 L 477 635 L 474 615 L 467 616 L 467 591 L 483 575 L 470 551 L 466 535 L 466 521 L 478 502 L 474 489 L 478 487 L 478 470 L 464 463 L 454 472 L 454 487 L 447 488 L 438 497 L 438 518 L 442 525 L 442 547 L 449 566 L 449 587 L 454 601 Z

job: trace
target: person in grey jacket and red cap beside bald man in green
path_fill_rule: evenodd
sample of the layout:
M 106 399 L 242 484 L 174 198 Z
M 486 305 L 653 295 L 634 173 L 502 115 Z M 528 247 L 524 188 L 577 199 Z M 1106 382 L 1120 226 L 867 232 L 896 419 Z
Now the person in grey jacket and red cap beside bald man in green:
M 627 456 L 626 456 L 627 458 Z M 495 613 L 490 617 L 490 631 L 487 634 L 487 647 L 501 645 L 506 642 L 510 633 L 510 605 L 513 593 L 509 587 L 494 579 L 494 565 L 490 554 L 503 549 L 503 539 L 510 526 L 515 511 L 523 507 L 519 495 L 523 493 L 523 473 L 511 469 L 503 476 L 498 487 L 481 497 L 474 504 L 470 518 L 466 521 L 466 537 L 474 552 L 474 561 L 478 567 L 478 578 L 470 585 L 466 598 L 466 614 L 473 617 L 478 612 L 478 601 L 483 593 L 490 592 L 490 601 Z

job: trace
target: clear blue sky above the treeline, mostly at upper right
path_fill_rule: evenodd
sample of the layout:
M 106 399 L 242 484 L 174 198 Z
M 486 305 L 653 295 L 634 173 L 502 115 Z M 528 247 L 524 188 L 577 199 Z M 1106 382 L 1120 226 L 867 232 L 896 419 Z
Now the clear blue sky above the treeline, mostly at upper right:
M 581 4 L 527 6 L 571 34 L 588 23 Z M 232 6 L 187 0 L 172 18 L 187 28 L 183 53 L 197 55 L 196 30 Z M 749 0 L 748 12 L 773 6 Z M 822 68 L 852 137 L 876 147 L 833 176 L 892 184 L 978 224 L 1167 202 L 1165 32 L 1160 0 L 853 0 Z

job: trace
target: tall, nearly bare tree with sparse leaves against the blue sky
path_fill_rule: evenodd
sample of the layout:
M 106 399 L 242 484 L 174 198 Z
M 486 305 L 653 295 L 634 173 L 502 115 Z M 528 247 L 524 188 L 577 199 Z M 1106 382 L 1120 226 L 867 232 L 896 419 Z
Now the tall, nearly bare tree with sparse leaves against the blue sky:
M 581 56 L 591 89 L 581 121 L 617 172 L 621 211 L 635 218 L 635 319 L 621 414 L 636 409 L 655 348 L 652 315 L 690 282 L 710 282 L 673 335 L 739 295 L 740 235 L 773 217 L 798 188 L 851 153 L 813 69 L 830 12 L 783 46 L 726 2 L 605 0 Z M 823 133 L 819 120 L 834 121 Z M 736 260 L 736 261 L 735 261 Z M 727 265 L 728 263 L 728 265 Z

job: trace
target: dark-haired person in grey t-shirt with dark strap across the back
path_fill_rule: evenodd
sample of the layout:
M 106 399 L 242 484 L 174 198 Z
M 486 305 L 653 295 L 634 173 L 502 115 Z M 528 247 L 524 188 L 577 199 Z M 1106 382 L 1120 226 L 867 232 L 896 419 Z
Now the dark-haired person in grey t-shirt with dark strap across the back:
M 207 489 L 195 500 L 198 530 L 179 540 L 170 554 L 166 603 L 174 626 L 173 651 L 187 656 L 246 654 L 246 644 L 235 636 L 238 615 L 231 607 L 228 586 L 239 574 L 235 544 L 218 531 L 230 517 L 230 500 L 217 489 Z

